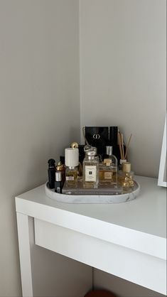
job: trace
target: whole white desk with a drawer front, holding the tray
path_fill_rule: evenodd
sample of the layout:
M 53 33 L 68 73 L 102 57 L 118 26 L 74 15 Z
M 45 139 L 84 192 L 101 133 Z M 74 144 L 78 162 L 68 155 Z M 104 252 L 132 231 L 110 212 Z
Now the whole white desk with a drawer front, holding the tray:
M 137 176 L 139 197 L 107 205 L 70 205 L 44 185 L 16 197 L 23 296 L 33 296 L 28 217 L 41 247 L 166 295 L 166 188 Z

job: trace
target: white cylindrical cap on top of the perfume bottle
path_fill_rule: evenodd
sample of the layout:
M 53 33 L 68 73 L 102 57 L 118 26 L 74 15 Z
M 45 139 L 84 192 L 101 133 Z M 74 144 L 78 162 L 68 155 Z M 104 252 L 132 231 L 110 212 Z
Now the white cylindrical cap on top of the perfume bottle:
M 65 148 L 65 166 L 76 167 L 79 163 L 78 148 Z

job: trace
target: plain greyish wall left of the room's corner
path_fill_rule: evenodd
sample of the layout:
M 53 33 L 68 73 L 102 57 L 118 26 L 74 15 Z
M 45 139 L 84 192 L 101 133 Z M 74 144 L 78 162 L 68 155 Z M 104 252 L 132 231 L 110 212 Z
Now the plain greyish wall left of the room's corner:
M 14 197 L 44 183 L 48 158 L 80 139 L 78 46 L 77 0 L 0 0 L 3 297 L 21 295 Z

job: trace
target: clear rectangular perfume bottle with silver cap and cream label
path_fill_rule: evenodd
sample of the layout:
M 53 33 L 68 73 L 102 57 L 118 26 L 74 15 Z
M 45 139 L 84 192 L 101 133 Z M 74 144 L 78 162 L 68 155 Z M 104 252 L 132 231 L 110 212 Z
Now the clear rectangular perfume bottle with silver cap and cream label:
M 98 165 L 99 161 L 95 158 L 97 148 L 85 146 L 85 158 L 83 161 L 83 187 L 97 188 L 98 185 Z

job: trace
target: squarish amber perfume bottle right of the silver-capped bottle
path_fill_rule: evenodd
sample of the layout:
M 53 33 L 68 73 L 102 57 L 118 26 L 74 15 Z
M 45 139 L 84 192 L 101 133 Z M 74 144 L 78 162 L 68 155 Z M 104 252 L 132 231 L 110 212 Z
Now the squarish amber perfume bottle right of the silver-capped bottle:
M 117 158 L 104 159 L 99 164 L 99 185 L 117 185 Z

